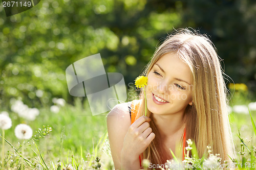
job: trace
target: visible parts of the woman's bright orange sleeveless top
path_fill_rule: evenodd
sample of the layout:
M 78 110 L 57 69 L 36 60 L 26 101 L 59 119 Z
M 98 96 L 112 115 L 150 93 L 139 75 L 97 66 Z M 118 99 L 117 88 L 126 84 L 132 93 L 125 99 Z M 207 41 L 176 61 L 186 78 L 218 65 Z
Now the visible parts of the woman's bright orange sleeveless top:
M 134 100 L 131 102 L 131 106 L 130 106 L 130 116 L 131 116 L 131 125 L 139 118 L 137 117 L 138 111 L 140 109 L 140 105 L 141 105 L 142 100 Z M 184 153 L 185 153 L 185 144 L 186 144 L 186 128 L 184 129 L 184 134 L 183 134 L 183 156 L 182 159 L 184 160 Z M 140 155 L 139 159 L 140 159 L 140 166 L 141 166 L 141 156 L 143 156 L 143 154 Z

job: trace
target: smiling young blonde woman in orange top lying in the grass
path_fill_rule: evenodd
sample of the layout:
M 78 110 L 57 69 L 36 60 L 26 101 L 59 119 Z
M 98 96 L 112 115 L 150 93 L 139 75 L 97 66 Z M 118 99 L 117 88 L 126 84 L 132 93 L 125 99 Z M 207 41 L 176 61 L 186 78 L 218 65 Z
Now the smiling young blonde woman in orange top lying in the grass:
M 141 90 L 140 100 L 115 106 L 107 118 L 116 169 L 140 169 L 143 158 L 164 164 L 173 158 L 169 149 L 175 152 L 177 142 L 184 149 L 187 139 L 200 157 L 207 145 L 222 160 L 234 157 L 220 60 L 206 36 L 188 29 L 168 36 L 143 75 L 146 116 Z

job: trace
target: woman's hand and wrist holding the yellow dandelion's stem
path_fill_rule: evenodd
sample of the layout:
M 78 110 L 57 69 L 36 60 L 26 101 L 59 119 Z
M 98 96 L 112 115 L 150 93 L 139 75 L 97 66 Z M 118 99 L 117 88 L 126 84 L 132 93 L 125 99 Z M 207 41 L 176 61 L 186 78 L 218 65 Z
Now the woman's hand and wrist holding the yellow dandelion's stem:
M 146 150 L 155 138 L 149 124 L 150 120 L 149 117 L 141 116 L 129 127 L 121 151 L 121 164 L 123 166 L 137 162 L 139 155 Z

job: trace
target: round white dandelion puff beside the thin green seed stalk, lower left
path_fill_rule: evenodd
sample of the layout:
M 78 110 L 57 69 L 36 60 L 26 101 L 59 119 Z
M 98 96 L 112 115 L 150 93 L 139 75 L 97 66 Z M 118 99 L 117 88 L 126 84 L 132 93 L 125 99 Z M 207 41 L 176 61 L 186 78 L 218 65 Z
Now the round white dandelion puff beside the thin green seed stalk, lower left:
M 32 137 L 32 134 L 33 134 L 33 131 L 30 128 L 30 126 L 26 124 L 17 125 L 14 132 L 15 132 L 15 136 L 18 139 L 29 139 Z

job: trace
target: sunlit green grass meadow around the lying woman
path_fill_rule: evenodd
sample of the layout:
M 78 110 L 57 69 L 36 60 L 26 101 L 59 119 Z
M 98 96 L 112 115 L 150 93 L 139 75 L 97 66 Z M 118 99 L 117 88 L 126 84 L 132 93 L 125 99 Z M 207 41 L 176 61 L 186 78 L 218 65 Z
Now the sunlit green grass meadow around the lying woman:
M 255 169 L 256 129 L 252 119 L 256 120 L 256 103 L 245 87 L 236 84 L 234 90 L 232 84 L 229 86 L 229 119 L 238 155 L 236 168 Z M 9 110 L 1 110 L 12 121 L 11 128 L 1 133 L 5 138 L 0 154 L 2 169 L 114 169 L 106 131 L 107 113 L 92 116 L 86 99 L 75 98 L 71 105 L 54 98 L 52 106 L 37 108 L 39 114 L 35 111 L 34 117 L 32 113 L 30 117 L 22 114 L 24 108 L 28 109 L 22 100 L 11 99 L 10 103 Z M 29 125 L 32 137 L 18 139 L 14 131 L 19 124 Z M 200 161 L 198 158 L 192 163 Z

